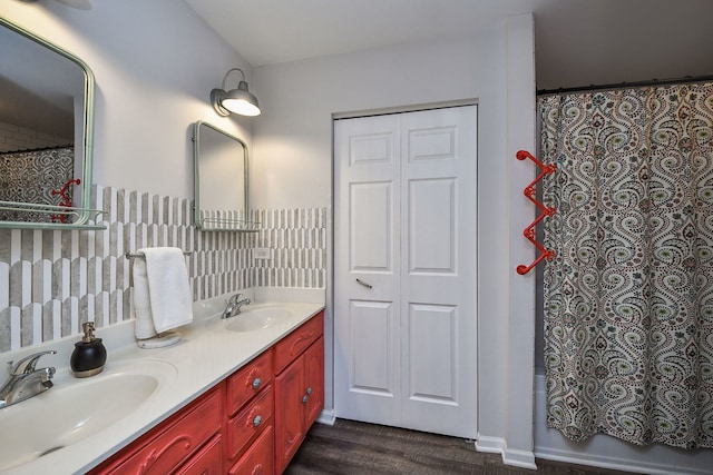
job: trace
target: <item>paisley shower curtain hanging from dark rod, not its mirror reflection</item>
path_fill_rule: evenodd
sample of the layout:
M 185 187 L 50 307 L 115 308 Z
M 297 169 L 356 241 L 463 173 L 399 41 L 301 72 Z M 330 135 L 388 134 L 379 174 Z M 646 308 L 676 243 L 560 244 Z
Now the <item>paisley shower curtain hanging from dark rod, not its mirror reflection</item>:
M 713 82 L 538 107 L 548 425 L 713 447 Z

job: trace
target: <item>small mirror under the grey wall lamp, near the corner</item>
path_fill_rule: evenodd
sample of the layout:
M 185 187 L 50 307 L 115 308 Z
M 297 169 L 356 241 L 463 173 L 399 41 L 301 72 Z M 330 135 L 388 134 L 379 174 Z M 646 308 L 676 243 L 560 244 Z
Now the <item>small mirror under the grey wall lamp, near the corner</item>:
M 255 231 L 247 208 L 247 146 L 197 121 L 193 131 L 195 224 L 204 231 Z

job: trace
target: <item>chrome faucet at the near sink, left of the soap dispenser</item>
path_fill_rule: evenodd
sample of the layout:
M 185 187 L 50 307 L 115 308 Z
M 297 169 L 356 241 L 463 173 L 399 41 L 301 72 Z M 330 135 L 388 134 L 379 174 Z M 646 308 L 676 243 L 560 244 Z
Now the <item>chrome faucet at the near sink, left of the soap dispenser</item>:
M 55 368 L 36 369 L 37 360 L 45 355 L 55 355 L 53 349 L 26 356 L 14 365 L 8 363 L 10 377 L 0 388 L 0 409 L 37 396 L 52 387 L 50 380 L 55 376 Z

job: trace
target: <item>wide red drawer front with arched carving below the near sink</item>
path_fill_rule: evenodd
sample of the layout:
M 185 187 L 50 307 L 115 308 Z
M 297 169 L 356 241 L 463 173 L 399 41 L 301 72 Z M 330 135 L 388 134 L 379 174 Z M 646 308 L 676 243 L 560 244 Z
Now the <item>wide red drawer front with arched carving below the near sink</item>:
M 184 461 L 221 428 L 223 417 L 223 392 L 217 387 L 195 403 L 185 416 L 175 423 L 162 426 L 155 437 L 139 443 L 111 464 L 107 474 L 167 474 L 173 473 Z

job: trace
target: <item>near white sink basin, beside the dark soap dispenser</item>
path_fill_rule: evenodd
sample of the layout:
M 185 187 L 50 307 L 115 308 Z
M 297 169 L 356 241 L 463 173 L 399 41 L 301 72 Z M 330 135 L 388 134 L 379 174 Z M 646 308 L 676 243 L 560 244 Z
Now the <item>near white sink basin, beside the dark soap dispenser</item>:
M 176 378 L 164 362 L 107 367 L 87 379 L 59 378 L 55 387 L 0 409 L 0 472 L 59 451 L 110 427 Z

